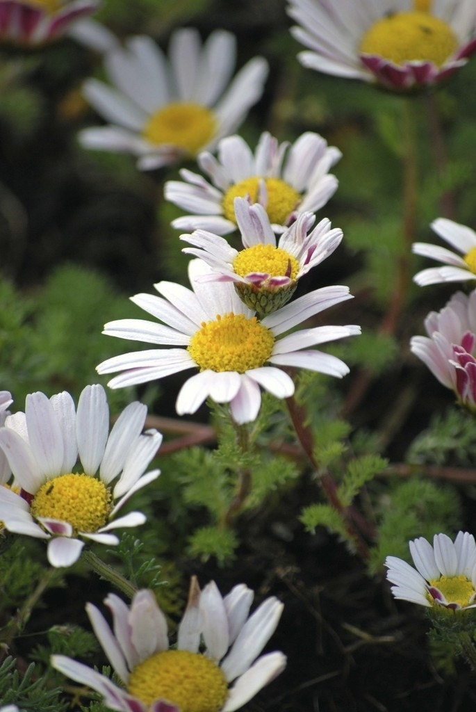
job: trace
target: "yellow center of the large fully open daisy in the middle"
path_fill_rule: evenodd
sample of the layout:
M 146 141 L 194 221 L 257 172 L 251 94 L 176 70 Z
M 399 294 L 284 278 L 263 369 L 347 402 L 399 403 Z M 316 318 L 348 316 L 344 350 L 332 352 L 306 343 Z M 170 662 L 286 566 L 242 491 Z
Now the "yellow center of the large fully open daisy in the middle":
M 215 321 L 202 323 L 187 350 L 202 371 L 244 373 L 265 364 L 274 342 L 273 334 L 255 316 L 217 314 Z

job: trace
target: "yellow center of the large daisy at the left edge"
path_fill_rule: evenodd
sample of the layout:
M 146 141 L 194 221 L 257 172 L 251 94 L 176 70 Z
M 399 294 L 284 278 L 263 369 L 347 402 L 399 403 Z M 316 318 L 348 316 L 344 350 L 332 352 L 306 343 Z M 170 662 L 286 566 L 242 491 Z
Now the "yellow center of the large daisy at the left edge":
M 85 474 L 60 475 L 45 482 L 31 503 L 35 517 L 59 519 L 75 533 L 95 532 L 107 522 L 111 493 L 104 483 Z

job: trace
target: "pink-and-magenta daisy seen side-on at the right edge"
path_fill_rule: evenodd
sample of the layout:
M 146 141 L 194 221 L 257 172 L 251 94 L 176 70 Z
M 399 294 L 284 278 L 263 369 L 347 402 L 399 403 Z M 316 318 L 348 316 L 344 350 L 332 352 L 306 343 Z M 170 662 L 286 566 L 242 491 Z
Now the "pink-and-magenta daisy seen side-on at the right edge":
M 476 412 L 476 290 L 458 292 L 425 319 L 426 336 L 413 336 L 411 350 L 464 407 Z

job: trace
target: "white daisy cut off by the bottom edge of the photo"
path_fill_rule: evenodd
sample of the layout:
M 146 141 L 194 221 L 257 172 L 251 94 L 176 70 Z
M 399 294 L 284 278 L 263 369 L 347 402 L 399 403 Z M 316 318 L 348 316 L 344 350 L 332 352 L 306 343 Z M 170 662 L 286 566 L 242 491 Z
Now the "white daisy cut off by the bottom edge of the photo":
M 252 601 L 253 591 L 244 584 L 222 598 L 215 582 L 200 591 L 192 580 L 176 648 L 170 649 L 166 618 L 152 591 L 138 591 L 130 608 L 110 594 L 105 604 L 112 629 L 95 606 L 86 608 L 125 689 L 66 656 L 53 655 L 51 664 L 120 712 L 233 712 L 286 665 L 281 652 L 258 657 L 275 631 L 282 603 L 267 598 L 248 617 Z

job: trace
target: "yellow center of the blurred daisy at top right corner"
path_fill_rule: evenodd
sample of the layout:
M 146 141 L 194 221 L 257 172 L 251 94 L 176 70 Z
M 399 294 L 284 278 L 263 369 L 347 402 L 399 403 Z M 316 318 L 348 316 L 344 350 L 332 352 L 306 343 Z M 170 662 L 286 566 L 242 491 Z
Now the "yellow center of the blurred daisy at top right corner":
M 359 51 L 398 65 L 428 61 L 441 67 L 458 49 L 458 39 L 447 23 L 419 9 L 420 5 L 377 20 L 364 34 Z

